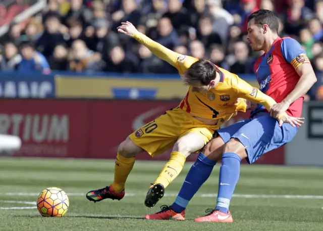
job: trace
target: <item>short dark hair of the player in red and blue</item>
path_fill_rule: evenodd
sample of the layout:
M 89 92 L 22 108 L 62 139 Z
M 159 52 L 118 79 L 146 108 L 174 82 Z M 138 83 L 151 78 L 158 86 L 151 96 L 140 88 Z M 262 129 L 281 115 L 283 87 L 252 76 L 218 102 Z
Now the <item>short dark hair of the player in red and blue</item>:
M 272 11 L 263 9 L 255 11 L 248 17 L 247 21 L 250 22 L 252 19 L 257 26 L 261 27 L 267 24 L 272 31 L 278 32 L 279 22 Z

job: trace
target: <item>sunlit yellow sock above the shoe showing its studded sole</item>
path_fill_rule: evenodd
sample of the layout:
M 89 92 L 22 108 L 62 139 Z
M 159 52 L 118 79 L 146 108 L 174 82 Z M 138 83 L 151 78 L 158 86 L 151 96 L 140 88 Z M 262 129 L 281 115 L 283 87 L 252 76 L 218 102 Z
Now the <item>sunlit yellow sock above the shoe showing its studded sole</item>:
M 171 158 L 159 173 L 154 183 L 161 183 L 166 188 L 180 174 L 186 157 L 179 152 L 172 152 Z

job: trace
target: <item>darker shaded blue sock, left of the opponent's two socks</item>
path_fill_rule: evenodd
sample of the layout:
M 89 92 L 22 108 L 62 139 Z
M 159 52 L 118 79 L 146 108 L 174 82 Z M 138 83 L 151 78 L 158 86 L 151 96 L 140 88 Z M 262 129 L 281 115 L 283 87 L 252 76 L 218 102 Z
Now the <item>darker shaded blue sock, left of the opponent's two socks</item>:
M 179 192 L 175 202 L 172 204 L 172 208 L 175 212 L 181 213 L 185 210 L 194 194 L 210 176 L 216 163 L 217 162 L 211 161 L 200 152 L 197 160 L 192 165 L 185 178 L 181 191 Z

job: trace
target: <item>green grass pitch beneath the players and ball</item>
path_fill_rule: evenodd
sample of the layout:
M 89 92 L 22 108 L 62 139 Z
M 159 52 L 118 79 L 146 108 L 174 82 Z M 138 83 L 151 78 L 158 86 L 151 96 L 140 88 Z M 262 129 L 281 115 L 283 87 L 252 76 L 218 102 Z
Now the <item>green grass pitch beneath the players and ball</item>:
M 113 181 L 114 161 L 72 159 L 0 159 L 0 230 L 321 230 L 323 196 L 282 198 L 282 195 L 322 195 L 323 169 L 242 165 L 231 201 L 234 223 L 196 223 L 204 209 L 216 205 L 217 165 L 186 210 L 186 221 L 144 220 L 146 214 L 175 200 L 192 163 L 166 189 L 166 196 L 149 209 L 145 194 L 165 162 L 136 161 L 121 201 L 89 202 L 85 194 Z M 70 208 L 62 218 L 41 217 L 35 208 L 44 188 L 63 189 Z M 128 194 L 128 196 L 127 196 Z M 211 194 L 211 195 L 209 195 Z M 240 196 L 239 196 L 240 195 Z M 246 195 L 264 195 L 247 198 Z M 272 195 L 272 196 L 270 196 Z M 253 197 L 253 196 L 250 196 Z M 277 198 L 275 198 L 277 197 Z M 8 209 L 10 208 L 10 209 Z

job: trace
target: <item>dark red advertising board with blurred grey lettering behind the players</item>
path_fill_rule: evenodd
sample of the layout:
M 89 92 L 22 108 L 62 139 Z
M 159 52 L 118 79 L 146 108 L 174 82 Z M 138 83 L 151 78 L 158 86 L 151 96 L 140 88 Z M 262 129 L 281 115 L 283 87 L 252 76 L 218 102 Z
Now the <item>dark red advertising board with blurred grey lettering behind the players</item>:
M 19 135 L 16 156 L 114 159 L 118 145 L 178 101 L 6 100 L 0 104 L 0 133 Z M 230 123 L 245 119 L 240 113 Z M 154 158 L 167 160 L 171 150 Z M 137 159 L 151 160 L 144 153 Z M 196 155 L 188 158 L 195 161 Z M 284 164 L 284 147 L 257 163 Z

